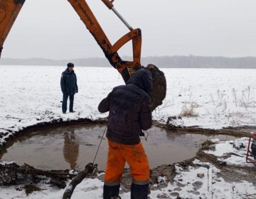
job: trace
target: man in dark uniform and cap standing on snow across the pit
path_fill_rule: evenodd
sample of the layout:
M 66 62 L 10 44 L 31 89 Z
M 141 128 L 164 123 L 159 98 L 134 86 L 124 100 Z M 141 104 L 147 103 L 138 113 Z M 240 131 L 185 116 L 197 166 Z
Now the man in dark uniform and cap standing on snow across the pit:
M 78 92 L 76 73 L 74 72 L 74 64 L 68 63 L 67 69 L 61 74 L 60 87 L 63 93 L 62 112 L 65 114 L 67 111 L 67 101 L 69 97 L 69 112 L 74 113 L 73 102 L 74 95 Z

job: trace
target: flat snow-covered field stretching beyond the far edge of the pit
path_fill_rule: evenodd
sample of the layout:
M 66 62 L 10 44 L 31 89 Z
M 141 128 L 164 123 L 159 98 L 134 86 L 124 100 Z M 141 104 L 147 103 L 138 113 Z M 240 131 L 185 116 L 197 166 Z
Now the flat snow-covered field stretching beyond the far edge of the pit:
M 76 113 L 63 115 L 60 75 L 65 67 L 0 66 L 0 132 L 18 131 L 39 122 L 63 118 L 106 117 L 98 103 L 123 80 L 115 69 L 75 67 L 79 93 Z M 185 108 L 198 114 L 183 118 L 185 126 L 221 128 L 256 124 L 255 69 L 162 69 L 167 96 L 154 111 L 155 120 L 179 115 Z M 1 141 L 3 142 L 3 141 Z

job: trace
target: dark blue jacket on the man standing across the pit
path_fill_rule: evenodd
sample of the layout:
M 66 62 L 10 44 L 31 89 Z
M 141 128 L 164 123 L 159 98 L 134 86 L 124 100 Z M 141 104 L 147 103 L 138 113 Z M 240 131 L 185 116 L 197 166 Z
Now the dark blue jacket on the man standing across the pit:
M 68 68 L 61 74 L 60 87 L 63 94 L 73 95 L 78 92 L 76 73 Z

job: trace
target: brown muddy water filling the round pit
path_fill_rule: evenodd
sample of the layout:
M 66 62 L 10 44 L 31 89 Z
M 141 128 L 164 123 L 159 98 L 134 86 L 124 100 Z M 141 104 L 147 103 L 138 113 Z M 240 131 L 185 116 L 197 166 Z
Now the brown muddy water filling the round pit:
M 8 143 L 1 151 L 0 159 L 16 161 L 19 165 L 27 163 L 40 169 L 81 170 L 93 161 L 104 129 L 105 126 L 69 126 L 36 131 Z M 235 139 L 226 135 L 167 134 L 159 127 L 152 127 L 148 132 L 147 141 L 142 138 L 142 143 L 151 168 L 194 157 L 207 139 Z M 98 169 L 105 169 L 107 152 L 108 142 L 104 136 L 95 161 Z

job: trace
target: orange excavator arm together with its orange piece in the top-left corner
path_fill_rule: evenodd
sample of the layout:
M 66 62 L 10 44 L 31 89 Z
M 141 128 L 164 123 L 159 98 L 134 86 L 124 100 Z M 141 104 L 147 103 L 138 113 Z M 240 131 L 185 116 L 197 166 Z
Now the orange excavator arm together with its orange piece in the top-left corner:
M 16 17 L 25 0 L 5 0 L 0 2 L 0 56 L 3 48 L 3 43 L 13 26 Z M 86 28 L 93 35 L 94 39 L 100 45 L 109 63 L 122 74 L 123 80 L 127 82 L 130 76 L 141 67 L 141 45 L 142 37 L 140 29 L 133 29 L 125 19 L 114 9 L 113 1 L 102 0 L 103 3 L 122 20 L 129 28 L 129 32 L 122 36 L 113 45 L 109 42 L 108 37 L 102 30 L 96 17 L 90 10 L 88 3 L 85 0 L 68 0 L 73 9 L 80 16 Z M 133 61 L 123 61 L 118 55 L 118 50 L 127 42 L 132 40 L 133 43 Z

